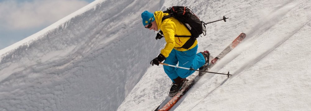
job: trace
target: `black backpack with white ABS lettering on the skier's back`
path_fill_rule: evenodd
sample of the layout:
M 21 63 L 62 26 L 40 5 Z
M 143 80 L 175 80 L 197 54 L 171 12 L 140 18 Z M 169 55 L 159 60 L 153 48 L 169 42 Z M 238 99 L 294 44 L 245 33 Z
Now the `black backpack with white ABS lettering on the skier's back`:
M 188 49 L 195 42 L 196 38 L 199 37 L 203 33 L 206 35 L 206 28 L 204 22 L 200 21 L 200 19 L 189 9 L 189 7 L 185 6 L 172 6 L 171 8 L 163 11 L 163 13 L 169 13 L 162 18 L 162 22 L 164 19 L 174 17 L 180 23 L 186 26 L 186 28 L 190 31 L 191 36 L 188 35 L 175 35 L 175 37 L 191 37 L 181 48 Z M 156 39 L 160 39 L 163 37 L 163 32 L 160 31 L 157 34 Z

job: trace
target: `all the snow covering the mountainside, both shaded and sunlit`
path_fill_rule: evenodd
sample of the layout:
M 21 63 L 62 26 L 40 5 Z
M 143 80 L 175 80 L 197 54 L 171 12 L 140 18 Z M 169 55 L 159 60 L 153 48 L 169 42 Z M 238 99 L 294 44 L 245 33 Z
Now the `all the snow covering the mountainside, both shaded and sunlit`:
M 229 18 L 207 25 L 198 51 L 216 56 L 246 33 L 210 70 L 233 76 L 206 74 L 173 110 L 311 110 L 309 0 L 96 0 L 0 50 L 0 111 L 154 110 L 171 81 L 149 64 L 165 41 L 141 13 L 172 5 Z

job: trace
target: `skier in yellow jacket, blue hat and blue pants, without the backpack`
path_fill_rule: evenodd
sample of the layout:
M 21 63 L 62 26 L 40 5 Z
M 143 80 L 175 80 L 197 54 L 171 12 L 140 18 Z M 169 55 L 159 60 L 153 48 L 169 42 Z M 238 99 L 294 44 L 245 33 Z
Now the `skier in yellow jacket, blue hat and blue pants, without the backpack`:
M 163 16 L 166 15 L 168 13 L 163 13 L 162 11 L 156 11 L 154 14 L 148 11 L 142 13 L 142 23 L 145 28 L 154 31 L 161 30 L 166 41 L 164 49 L 160 51 L 160 54 L 155 59 L 151 60 L 150 64 L 152 66 L 154 64 L 159 65 L 160 62 L 165 60 L 165 64 L 176 65 L 178 63 L 180 67 L 205 70 L 209 62 L 210 53 L 208 51 L 197 53 L 197 40 L 188 49 L 181 48 L 190 37 L 178 37 L 178 35 L 191 35 L 191 33 L 186 26 L 173 17 L 162 21 Z M 169 66 L 163 66 L 163 68 L 173 81 L 169 89 L 169 96 L 171 97 L 186 83 L 186 77 L 195 72 Z

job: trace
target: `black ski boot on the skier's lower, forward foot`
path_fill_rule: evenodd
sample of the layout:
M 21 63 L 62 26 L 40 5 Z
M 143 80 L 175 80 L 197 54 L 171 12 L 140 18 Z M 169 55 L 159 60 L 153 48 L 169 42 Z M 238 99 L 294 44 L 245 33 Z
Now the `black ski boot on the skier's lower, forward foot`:
M 171 88 L 169 89 L 169 96 L 173 97 L 177 94 L 177 92 L 183 88 L 183 85 L 187 82 L 186 78 L 180 78 L 179 76 L 174 79 L 175 83 L 173 82 Z

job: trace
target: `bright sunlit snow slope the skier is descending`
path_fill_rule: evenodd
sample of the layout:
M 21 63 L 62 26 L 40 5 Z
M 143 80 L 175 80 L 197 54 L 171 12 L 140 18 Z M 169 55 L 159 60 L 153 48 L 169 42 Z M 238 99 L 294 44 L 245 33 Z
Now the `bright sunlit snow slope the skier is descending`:
M 208 25 L 199 51 L 216 56 L 240 32 L 246 39 L 186 94 L 176 111 L 311 110 L 311 3 L 303 1 L 165 1 L 187 5 Z M 152 78 L 152 79 L 150 79 Z M 150 67 L 118 110 L 154 110 L 171 81 L 161 67 Z

